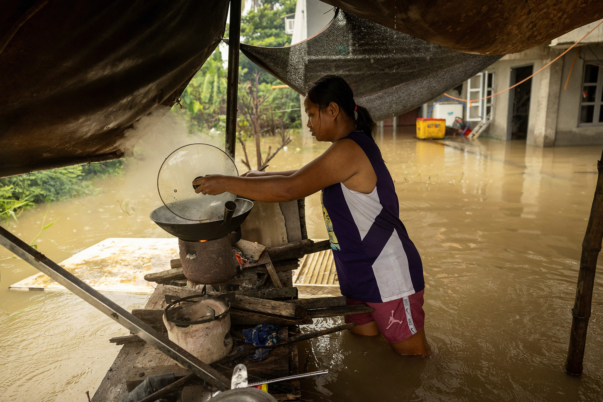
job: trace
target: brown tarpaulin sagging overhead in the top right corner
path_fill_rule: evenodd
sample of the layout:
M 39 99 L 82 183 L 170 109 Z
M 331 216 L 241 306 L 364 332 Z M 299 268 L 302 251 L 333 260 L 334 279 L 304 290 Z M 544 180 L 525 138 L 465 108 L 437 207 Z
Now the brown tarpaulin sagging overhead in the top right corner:
M 385 27 L 477 54 L 519 53 L 603 18 L 601 0 L 321 0 Z

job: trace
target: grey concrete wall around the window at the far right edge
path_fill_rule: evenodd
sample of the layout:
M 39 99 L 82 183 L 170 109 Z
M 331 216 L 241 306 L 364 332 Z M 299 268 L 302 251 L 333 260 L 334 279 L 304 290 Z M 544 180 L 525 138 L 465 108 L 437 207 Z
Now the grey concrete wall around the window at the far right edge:
M 590 52 L 589 48 L 592 49 L 595 55 Z M 603 60 L 603 45 L 589 45 L 589 48 L 581 49 L 581 55 L 576 59 L 572 75 L 567 82 L 567 89 L 564 89 L 564 86 L 566 84 L 567 75 L 569 75 L 570 68 L 572 67 L 575 51 L 572 49 L 563 56 L 557 133 L 554 141 L 555 147 L 603 144 L 603 126 L 578 127 L 580 99 L 582 97 L 582 74 L 584 71 L 584 62 L 582 62 L 580 57 L 586 60 L 595 60 L 595 63 L 597 63 L 596 57 Z M 602 73 L 603 71 L 599 71 L 599 74 Z

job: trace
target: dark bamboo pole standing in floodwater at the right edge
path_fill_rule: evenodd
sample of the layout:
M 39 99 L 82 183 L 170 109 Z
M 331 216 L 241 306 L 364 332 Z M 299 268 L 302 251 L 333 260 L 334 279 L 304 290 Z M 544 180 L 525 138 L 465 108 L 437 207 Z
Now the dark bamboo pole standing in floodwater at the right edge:
M 603 161 L 603 153 L 601 155 Z M 597 162 L 599 177 L 595 188 L 593 205 L 590 208 L 589 224 L 582 241 L 582 255 L 576 286 L 576 300 L 572 308 L 572 330 L 570 331 L 569 349 L 565 371 L 567 374 L 582 374 L 584 348 L 586 346 L 586 330 L 589 327 L 590 306 L 593 300 L 595 270 L 597 258 L 603 240 L 603 163 Z

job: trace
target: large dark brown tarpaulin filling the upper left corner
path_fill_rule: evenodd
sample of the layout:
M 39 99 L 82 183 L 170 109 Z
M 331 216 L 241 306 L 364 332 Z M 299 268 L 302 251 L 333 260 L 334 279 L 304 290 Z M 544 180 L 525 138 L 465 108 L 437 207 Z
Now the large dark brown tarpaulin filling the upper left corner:
M 216 48 L 228 8 L 2 2 L 0 177 L 128 155 Z

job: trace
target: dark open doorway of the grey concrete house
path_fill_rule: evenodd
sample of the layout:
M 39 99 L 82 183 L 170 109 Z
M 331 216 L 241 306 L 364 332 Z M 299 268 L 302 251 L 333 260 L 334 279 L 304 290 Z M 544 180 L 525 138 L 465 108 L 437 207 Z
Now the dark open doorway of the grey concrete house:
M 511 85 L 532 75 L 533 66 L 511 69 Z M 511 89 L 509 96 L 509 121 L 507 139 L 526 139 L 528 136 L 529 100 L 532 92 L 532 78 Z

